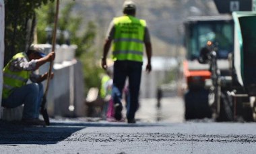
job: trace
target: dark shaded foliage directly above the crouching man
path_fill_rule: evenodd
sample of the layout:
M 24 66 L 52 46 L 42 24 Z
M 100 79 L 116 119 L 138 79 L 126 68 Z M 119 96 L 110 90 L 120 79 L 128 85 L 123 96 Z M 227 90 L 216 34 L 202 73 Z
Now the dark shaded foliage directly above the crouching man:
M 5 64 L 33 42 L 35 9 L 54 0 L 5 0 Z

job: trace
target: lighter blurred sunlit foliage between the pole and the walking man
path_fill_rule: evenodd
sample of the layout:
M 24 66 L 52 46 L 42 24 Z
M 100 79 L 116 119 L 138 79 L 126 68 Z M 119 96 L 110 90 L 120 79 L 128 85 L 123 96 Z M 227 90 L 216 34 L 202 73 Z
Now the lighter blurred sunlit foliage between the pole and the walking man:
M 46 27 L 53 29 L 55 7 L 54 3 L 42 6 L 38 9 L 36 15 L 38 17 L 37 34 L 38 44 L 46 43 Z M 97 64 L 98 57 L 96 56 L 96 47 L 94 40 L 96 37 L 96 25 L 89 22 L 87 27 L 82 27 L 82 15 L 72 15 L 72 9 L 75 7 L 75 2 L 68 3 L 65 7 L 59 10 L 59 19 L 57 27 L 61 31 L 69 31 L 71 44 L 77 45 L 75 56 L 82 62 L 84 72 L 84 82 L 86 93 L 91 87 L 100 85 L 100 73 L 102 68 Z M 57 40 L 58 44 L 65 44 L 63 35 Z

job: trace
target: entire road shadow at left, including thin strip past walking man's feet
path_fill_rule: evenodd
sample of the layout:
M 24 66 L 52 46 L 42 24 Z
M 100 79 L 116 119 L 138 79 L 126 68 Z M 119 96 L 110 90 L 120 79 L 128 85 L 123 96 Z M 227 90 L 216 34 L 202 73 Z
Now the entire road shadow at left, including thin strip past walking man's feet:
M 26 126 L 20 123 L 0 121 L 0 145 L 56 144 L 86 127 L 154 127 L 152 124 L 98 123 L 54 121 L 50 126 Z M 159 125 L 158 125 L 159 126 Z

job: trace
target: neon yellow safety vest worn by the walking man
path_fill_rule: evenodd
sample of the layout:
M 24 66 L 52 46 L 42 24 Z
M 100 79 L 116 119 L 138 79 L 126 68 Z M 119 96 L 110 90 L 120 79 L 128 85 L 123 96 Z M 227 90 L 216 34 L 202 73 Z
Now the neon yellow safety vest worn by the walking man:
M 127 15 L 115 18 L 114 24 L 113 59 L 142 62 L 146 21 Z

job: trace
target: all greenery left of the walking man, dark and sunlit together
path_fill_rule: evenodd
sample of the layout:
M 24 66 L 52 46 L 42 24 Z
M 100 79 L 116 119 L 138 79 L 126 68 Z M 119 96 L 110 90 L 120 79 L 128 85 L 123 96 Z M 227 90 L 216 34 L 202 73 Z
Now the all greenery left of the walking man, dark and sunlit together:
M 71 14 L 74 5 L 75 2 L 71 2 L 59 11 L 58 27 L 68 30 L 71 44 L 77 44 L 76 56 L 84 66 L 87 92 L 90 87 L 100 85 L 102 72 L 94 45 L 96 25 L 90 22 L 86 29 L 81 27 L 82 16 Z M 35 27 L 38 44 L 46 43 L 45 28 L 53 28 L 55 11 L 54 0 L 5 0 L 5 64 L 34 42 Z M 57 43 L 65 43 L 63 35 Z

